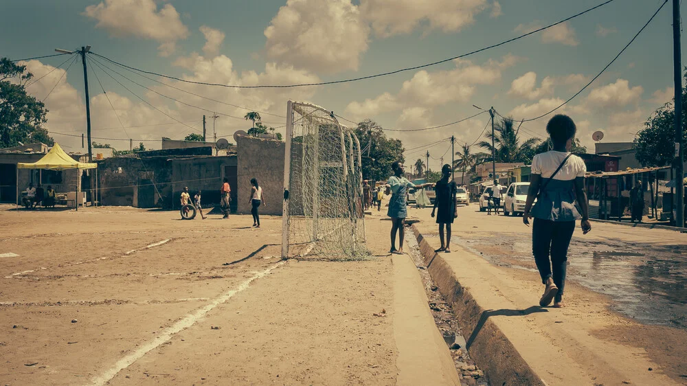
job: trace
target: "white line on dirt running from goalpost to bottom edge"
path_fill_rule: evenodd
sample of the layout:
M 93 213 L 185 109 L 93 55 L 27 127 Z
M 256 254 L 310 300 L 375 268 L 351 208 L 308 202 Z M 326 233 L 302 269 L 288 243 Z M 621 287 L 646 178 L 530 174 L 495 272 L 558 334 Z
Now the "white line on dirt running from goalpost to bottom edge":
M 155 337 L 155 339 L 153 339 L 153 341 L 140 345 L 139 348 L 137 348 L 137 350 L 135 350 L 131 354 L 128 354 L 127 356 L 124 356 L 124 358 L 117 361 L 117 363 L 115 363 L 113 367 L 109 368 L 108 370 L 100 374 L 100 376 L 96 376 L 95 378 L 93 378 L 91 380 L 91 385 L 104 385 L 108 383 L 112 378 L 115 377 L 115 375 L 117 375 L 118 372 L 126 369 L 126 367 L 129 367 L 130 365 L 135 363 L 135 361 L 141 359 L 145 354 L 148 354 L 148 352 L 150 352 L 151 350 L 154 350 L 155 348 L 159 347 L 159 345 L 166 343 L 167 341 L 172 339 L 172 336 L 174 334 L 177 334 L 185 328 L 193 326 L 197 321 L 199 321 L 199 319 L 204 317 L 216 306 L 219 306 L 220 304 L 227 302 L 227 300 L 234 297 L 234 295 L 236 295 L 237 293 L 245 291 L 248 288 L 249 284 L 251 284 L 251 282 L 260 279 L 260 277 L 264 277 L 273 269 L 284 264 L 284 262 L 285 261 L 277 262 L 268 269 L 256 273 L 255 275 L 249 277 L 249 279 L 245 282 L 239 284 L 238 287 L 229 290 L 223 293 L 222 295 L 219 295 L 218 297 L 212 299 L 210 304 L 207 304 L 207 306 L 199 308 L 193 313 L 187 314 L 185 317 L 183 317 L 183 319 L 177 321 L 177 323 L 174 323 L 172 324 L 172 326 L 165 328 L 157 335 L 157 337 Z

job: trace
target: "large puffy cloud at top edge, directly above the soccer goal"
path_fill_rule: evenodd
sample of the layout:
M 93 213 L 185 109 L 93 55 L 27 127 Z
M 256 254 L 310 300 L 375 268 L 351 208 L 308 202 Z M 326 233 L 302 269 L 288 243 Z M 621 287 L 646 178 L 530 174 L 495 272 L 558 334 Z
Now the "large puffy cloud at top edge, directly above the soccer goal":
M 357 70 L 369 34 L 350 0 L 288 0 L 264 30 L 267 58 L 322 73 Z

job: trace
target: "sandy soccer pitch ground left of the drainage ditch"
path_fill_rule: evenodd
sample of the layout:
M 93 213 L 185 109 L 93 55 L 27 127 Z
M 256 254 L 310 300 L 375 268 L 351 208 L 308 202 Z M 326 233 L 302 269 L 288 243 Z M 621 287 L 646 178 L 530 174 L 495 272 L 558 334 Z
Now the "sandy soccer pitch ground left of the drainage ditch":
M 0 207 L 0 383 L 458 383 L 388 222 L 357 262 L 282 261 L 281 218 L 251 223 Z

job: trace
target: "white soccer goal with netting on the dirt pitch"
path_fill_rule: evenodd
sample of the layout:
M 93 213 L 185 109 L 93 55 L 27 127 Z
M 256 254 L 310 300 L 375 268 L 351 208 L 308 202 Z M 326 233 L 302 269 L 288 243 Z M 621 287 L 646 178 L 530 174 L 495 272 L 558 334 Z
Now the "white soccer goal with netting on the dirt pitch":
M 360 142 L 320 106 L 289 101 L 282 258 L 366 256 Z

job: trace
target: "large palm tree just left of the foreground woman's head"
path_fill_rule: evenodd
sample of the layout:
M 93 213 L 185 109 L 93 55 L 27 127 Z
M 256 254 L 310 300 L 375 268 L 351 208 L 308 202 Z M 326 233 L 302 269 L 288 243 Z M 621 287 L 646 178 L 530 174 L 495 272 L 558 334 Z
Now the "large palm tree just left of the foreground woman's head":
M 532 155 L 534 155 L 534 147 L 539 144 L 539 138 L 530 138 L 523 143 L 520 143 L 518 130 L 514 127 L 512 117 L 503 118 L 501 122 L 497 122 L 494 132 L 494 147 L 491 146 L 491 133 L 486 137 L 489 141 L 481 141 L 479 145 L 493 154 L 497 162 L 523 162 L 530 163 Z

